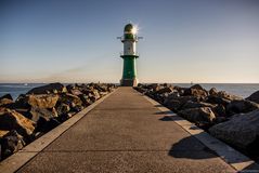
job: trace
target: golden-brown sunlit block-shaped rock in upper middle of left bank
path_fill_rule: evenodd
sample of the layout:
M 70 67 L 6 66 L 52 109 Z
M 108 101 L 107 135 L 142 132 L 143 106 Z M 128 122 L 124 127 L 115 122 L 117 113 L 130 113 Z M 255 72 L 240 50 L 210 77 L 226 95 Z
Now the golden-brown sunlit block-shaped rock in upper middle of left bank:
M 56 94 L 29 95 L 28 104 L 38 108 L 53 108 L 59 99 Z

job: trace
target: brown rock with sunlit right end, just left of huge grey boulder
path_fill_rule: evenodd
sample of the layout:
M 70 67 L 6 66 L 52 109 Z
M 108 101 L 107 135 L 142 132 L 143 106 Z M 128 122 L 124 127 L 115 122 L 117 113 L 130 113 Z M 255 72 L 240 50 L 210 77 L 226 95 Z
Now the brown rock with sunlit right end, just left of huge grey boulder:
M 212 121 L 216 119 L 216 116 L 210 107 L 191 108 L 181 110 L 178 114 L 195 123 L 212 123 Z

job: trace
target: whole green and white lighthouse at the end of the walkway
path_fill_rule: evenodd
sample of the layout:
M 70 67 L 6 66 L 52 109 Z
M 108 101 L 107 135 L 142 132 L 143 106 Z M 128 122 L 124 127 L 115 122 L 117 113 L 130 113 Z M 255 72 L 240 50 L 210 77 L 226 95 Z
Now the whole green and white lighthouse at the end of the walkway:
M 135 62 L 139 55 L 137 54 L 135 44 L 141 37 L 138 37 L 137 32 L 137 26 L 127 24 L 124 29 L 124 36 L 118 37 L 124 43 L 124 52 L 120 54 L 124 59 L 124 71 L 120 80 L 122 86 L 138 85 Z

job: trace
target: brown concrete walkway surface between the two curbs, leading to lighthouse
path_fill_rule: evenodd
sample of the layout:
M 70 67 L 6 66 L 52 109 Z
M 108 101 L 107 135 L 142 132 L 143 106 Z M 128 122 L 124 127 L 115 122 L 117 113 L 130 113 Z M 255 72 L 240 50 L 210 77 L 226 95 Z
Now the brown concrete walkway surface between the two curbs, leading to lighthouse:
M 140 93 L 119 88 L 18 172 L 234 172 Z

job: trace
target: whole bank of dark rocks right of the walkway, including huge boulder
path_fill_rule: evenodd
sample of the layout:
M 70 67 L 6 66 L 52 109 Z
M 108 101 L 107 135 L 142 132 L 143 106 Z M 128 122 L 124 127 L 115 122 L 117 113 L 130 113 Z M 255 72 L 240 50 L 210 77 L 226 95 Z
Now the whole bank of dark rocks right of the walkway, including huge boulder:
M 247 98 L 202 85 L 139 84 L 137 91 L 259 160 L 259 91 Z

